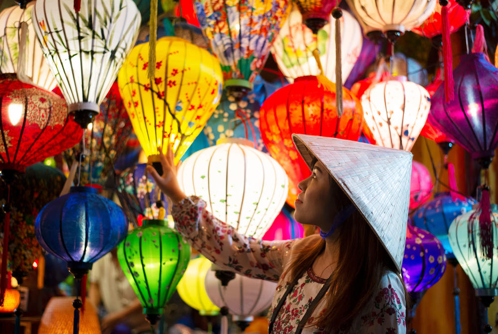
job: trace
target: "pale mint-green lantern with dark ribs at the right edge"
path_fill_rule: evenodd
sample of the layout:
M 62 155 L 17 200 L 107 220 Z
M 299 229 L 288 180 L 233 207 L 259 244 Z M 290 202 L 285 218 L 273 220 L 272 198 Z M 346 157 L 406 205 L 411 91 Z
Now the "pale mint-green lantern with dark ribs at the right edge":
M 458 263 L 469 277 L 478 296 L 498 295 L 498 208 L 491 204 L 493 256 L 487 259 L 481 248 L 479 214 L 481 210 L 476 204 L 473 209 L 464 213 L 450 225 L 448 238 Z

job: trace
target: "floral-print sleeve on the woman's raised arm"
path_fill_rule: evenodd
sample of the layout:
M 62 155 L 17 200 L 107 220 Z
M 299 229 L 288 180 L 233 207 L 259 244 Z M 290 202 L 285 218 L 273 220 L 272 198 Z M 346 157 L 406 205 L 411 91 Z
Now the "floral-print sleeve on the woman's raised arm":
M 191 196 L 173 206 L 176 229 L 190 245 L 224 270 L 277 282 L 294 240 L 262 241 L 246 237 L 206 210 Z

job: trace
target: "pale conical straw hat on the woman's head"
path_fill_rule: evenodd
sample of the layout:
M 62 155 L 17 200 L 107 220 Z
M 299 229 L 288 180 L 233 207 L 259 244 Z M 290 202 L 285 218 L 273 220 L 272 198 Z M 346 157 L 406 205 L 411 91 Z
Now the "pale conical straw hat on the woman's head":
M 328 168 L 401 272 L 412 154 L 337 138 L 293 134 L 292 140 L 310 169 L 313 158 Z

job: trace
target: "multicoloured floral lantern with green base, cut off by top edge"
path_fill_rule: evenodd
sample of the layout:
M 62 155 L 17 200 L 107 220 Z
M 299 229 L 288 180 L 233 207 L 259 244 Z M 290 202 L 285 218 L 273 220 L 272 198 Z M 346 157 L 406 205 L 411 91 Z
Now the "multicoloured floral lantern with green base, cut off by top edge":
M 266 62 L 289 14 L 289 1 L 249 0 L 241 6 L 238 1 L 196 0 L 195 9 L 211 50 L 220 59 L 225 87 L 242 97 Z

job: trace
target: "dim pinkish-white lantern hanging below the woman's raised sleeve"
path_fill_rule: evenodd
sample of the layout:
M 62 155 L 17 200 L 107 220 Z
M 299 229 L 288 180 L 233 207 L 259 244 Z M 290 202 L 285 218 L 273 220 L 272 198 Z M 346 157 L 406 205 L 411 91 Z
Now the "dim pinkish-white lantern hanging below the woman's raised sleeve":
M 235 274 L 235 278 L 224 287 L 215 272 L 210 270 L 205 286 L 209 299 L 219 308 L 226 306 L 234 321 L 251 322 L 252 316 L 271 305 L 277 284 Z

